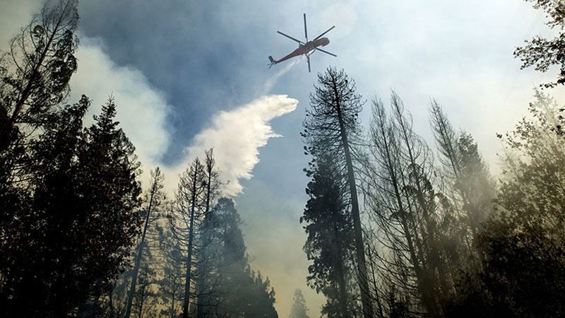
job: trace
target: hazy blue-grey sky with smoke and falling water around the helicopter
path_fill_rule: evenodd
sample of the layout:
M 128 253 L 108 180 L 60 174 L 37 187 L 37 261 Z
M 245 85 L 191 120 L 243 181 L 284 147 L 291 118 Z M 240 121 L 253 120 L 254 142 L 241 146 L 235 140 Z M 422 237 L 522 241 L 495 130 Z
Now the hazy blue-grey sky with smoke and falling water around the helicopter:
M 1 49 L 41 2 L 0 1 Z M 311 317 L 323 302 L 306 285 L 298 223 L 308 181 L 299 131 L 316 72 L 345 69 L 367 100 L 388 102 L 396 90 L 424 137 L 435 98 L 454 126 L 475 136 L 493 172 L 495 133 L 512 129 L 533 88 L 554 77 L 521 71 L 512 57 L 523 40 L 547 33 L 543 13 L 520 0 L 97 0 L 81 1 L 79 11 L 70 102 L 85 93 L 100 107 L 112 94 L 143 170 L 164 167 L 168 189 L 189 158 L 215 147 L 252 265 L 270 277 L 280 317 L 295 288 Z M 268 69 L 268 55 L 296 48 L 275 31 L 302 39 L 304 12 L 310 38 L 336 26 L 324 49 L 338 57 L 316 52 L 312 73 L 300 59 Z M 365 124 L 368 114 L 367 104 Z

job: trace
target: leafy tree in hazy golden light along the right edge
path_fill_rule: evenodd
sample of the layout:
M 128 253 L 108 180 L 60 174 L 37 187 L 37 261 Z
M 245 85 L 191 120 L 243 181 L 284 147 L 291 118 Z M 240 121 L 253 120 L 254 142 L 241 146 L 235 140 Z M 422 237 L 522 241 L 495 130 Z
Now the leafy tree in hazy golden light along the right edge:
M 565 314 L 563 137 L 556 131 L 552 99 L 537 93 L 530 112 L 532 119 L 523 119 L 503 138 L 497 211 L 477 240 L 482 269 L 460 278 L 453 317 L 461 312 L 465 317 Z

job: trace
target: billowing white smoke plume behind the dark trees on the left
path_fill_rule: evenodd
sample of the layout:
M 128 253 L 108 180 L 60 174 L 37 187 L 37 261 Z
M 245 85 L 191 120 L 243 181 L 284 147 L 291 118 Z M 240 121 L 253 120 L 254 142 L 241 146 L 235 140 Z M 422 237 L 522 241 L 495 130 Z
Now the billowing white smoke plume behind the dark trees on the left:
M 167 103 L 165 94 L 152 86 L 138 69 L 116 65 L 103 51 L 100 40 L 81 36 L 76 56 L 78 71 L 71 78 L 69 102 L 78 102 L 81 94 L 88 95 L 93 100 L 89 112 L 97 114 L 112 95 L 120 127 L 136 146 L 136 154 L 147 175 L 160 164 L 169 146 L 166 117 L 172 106 Z M 86 124 L 91 118 L 88 116 Z

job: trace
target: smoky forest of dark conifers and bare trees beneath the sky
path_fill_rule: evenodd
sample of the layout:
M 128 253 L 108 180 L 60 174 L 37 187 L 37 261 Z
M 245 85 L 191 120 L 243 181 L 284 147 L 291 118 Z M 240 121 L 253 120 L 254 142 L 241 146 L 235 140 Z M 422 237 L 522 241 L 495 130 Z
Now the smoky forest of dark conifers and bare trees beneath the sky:
M 532 2 L 565 28 L 565 4 Z M 88 121 L 89 92 L 69 100 L 77 6 L 48 1 L 0 56 L 0 317 L 278 317 L 222 192 L 222 149 L 191 160 L 174 193 L 160 167 L 142 187 L 119 101 Z M 297 226 L 322 317 L 565 315 L 565 109 L 545 90 L 565 83 L 564 34 L 514 52 L 561 69 L 497 134 L 498 176 L 435 100 L 415 119 L 394 91 L 366 102 L 344 70 L 318 74 Z M 292 302 L 290 318 L 319 316 L 302 290 Z

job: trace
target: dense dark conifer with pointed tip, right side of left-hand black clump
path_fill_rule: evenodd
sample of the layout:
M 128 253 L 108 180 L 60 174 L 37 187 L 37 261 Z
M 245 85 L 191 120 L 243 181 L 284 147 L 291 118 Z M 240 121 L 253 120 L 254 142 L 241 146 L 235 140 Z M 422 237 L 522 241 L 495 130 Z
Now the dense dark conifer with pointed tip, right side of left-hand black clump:
M 78 153 L 84 169 L 75 187 L 84 195 L 88 215 L 83 223 L 88 230 L 79 242 L 90 242 L 93 271 L 105 273 L 98 285 L 124 271 L 129 264 L 129 249 L 135 244 L 142 223 L 139 206 L 141 186 L 137 181 L 140 163 L 135 148 L 115 121 L 117 106 L 112 98 L 95 116 L 95 124 L 85 129 L 85 147 Z M 99 288 L 99 289 L 100 289 Z M 106 292 L 109 290 L 106 287 Z M 100 290 L 93 297 L 104 294 Z

